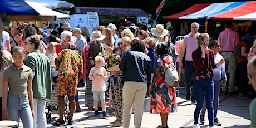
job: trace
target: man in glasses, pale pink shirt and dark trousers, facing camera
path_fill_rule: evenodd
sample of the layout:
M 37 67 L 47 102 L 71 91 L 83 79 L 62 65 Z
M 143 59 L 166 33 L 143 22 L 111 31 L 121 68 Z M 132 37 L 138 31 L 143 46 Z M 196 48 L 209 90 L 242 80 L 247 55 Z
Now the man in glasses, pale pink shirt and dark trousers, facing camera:
M 183 68 L 183 57 L 186 51 L 185 55 L 185 88 L 186 88 L 186 101 L 189 101 L 190 99 L 190 78 L 192 75 L 192 72 L 194 71 L 194 66 L 193 66 L 193 58 L 192 58 L 192 52 L 195 51 L 198 48 L 197 45 L 197 40 L 196 40 L 196 35 L 198 35 L 198 30 L 199 30 L 199 24 L 194 22 L 191 23 L 191 32 L 184 37 L 183 40 L 183 48 L 180 53 L 180 62 L 179 62 L 179 67 L 180 69 Z M 196 99 L 195 95 L 192 91 L 191 93 L 191 102 L 192 104 L 196 104 Z

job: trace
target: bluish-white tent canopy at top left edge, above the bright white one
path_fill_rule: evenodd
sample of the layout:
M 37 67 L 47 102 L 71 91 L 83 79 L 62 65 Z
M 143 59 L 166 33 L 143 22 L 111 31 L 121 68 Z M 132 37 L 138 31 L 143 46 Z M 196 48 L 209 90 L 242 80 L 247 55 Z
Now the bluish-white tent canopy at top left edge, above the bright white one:
M 72 7 L 75 7 L 74 4 L 68 3 L 66 1 L 58 1 L 58 0 L 26 0 L 31 2 L 37 2 L 40 3 L 42 6 L 45 6 L 49 9 L 70 9 Z

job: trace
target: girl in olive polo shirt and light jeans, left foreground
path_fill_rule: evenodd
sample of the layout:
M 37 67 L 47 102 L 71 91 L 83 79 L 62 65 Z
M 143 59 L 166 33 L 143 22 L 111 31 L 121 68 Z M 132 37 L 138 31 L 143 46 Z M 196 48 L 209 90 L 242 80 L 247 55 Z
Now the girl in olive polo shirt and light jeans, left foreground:
M 3 72 L 3 120 L 19 122 L 24 127 L 33 127 L 34 107 L 31 68 L 24 65 L 25 50 L 16 46 L 12 50 L 14 63 Z

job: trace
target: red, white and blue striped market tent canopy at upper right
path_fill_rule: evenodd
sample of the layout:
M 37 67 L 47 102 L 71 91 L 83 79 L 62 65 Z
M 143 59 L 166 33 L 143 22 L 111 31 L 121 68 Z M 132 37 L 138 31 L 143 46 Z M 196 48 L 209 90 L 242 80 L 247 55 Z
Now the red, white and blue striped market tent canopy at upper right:
M 195 4 L 164 19 L 256 20 L 256 1 Z

